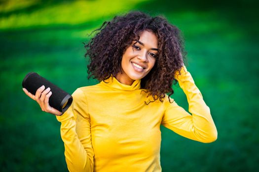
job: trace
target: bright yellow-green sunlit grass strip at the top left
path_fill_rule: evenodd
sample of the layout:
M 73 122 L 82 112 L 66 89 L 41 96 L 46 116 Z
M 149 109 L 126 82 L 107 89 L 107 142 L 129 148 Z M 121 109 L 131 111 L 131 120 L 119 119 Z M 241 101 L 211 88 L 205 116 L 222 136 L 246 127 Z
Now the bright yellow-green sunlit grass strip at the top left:
M 8 8 L 0 8 L 2 16 L 0 18 L 0 29 L 18 29 L 54 24 L 82 24 L 126 12 L 132 9 L 140 0 L 75 0 L 57 2 L 37 2 L 31 0 L 31 3 L 27 4 L 28 9 L 25 8 L 23 10 L 14 10 L 18 8 L 17 3 L 19 4 L 19 2 L 11 2 L 13 3 L 10 3 Z

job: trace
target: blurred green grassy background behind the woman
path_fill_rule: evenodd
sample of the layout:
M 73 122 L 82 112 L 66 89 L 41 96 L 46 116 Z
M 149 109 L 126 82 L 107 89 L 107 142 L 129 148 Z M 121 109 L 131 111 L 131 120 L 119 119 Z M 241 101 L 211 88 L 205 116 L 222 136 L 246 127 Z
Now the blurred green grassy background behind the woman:
M 254 172 L 259 162 L 259 13 L 252 0 L 0 0 L 0 171 L 68 171 L 60 123 L 22 90 L 31 71 L 67 92 L 87 80 L 83 42 L 141 10 L 178 26 L 186 66 L 218 128 L 205 144 L 161 127 L 163 172 Z M 185 94 L 172 96 L 188 110 Z

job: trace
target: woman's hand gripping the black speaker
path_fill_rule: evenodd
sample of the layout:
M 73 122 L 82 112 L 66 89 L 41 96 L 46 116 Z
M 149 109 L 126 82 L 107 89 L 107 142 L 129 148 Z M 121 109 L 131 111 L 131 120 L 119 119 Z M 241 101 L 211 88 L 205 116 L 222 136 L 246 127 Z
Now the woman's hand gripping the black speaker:
M 45 90 L 44 89 L 45 89 L 45 86 L 39 87 L 37 89 L 35 95 L 30 93 L 26 88 L 23 88 L 23 91 L 25 92 L 25 94 L 27 94 L 29 97 L 31 97 L 33 100 L 35 100 L 39 104 L 39 106 L 43 112 L 47 112 L 47 113 L 57 115 L 57 116 L 62 115 L 62 112 L 59 112 L 55 108 L 52 108 L 51 106 L 49 106 L 48 101 L 49 101 L 49 97 L 51 96 L 52 92 L 50 91 L 49 87 Z

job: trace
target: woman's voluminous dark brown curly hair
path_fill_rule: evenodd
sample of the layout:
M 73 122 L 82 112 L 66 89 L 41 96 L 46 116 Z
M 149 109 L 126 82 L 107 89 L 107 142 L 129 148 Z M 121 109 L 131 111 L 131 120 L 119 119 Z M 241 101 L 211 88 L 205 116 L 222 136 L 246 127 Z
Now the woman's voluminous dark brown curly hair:
M 153 101 L 159 99 L 163 102 L 165 93 L 169 93 L 168 98 L 174 93 L 172 84 L 173 81 L 177 83 L 175 73 L 180 72 L 186 53 L 180 30 L 162 16 L 151 17 L 139 11 L 129 12 L 115 16 L 94 30 L 97 31 L 96 35 L 85 44 L 85 57 L 89 57 L 88 79 L 93 77 L 104 81 L 121 72 L 122 55 L 144 30 L 157 36 L 158 54 L 153 68 L 141 79 L 141 88 L 147 90 L 145 92 L 148 96 L 152 95 Z

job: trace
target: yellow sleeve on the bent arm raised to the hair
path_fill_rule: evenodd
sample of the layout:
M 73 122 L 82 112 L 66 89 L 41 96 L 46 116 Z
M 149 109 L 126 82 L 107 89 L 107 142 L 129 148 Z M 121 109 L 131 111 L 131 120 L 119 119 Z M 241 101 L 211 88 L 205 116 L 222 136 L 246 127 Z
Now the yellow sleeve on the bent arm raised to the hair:
M 186 94 L 191 115 L 178 106 L 175 101 L 173 103 L 167 101 L 161 124 L 188 139 L 203 143 L 214 142 L 217 140 L 218 133 L 210 114 L 210 108 L 205 104 L 190 73 L 183 66 L 181 75 L 177 72 L 175 76 Z

